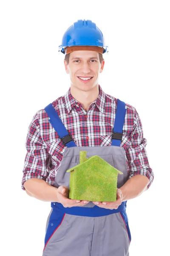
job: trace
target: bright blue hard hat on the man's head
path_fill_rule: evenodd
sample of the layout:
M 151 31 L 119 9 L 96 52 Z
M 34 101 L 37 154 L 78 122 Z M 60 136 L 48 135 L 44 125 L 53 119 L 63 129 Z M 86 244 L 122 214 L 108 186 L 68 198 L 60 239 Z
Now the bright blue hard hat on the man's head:
M 103 53 L 108 52 L 102 31 L 91 20 L 74 22 L 64 33 L 59 52 L 65 53 L 65 47 L 80 45 L 103 47 Z

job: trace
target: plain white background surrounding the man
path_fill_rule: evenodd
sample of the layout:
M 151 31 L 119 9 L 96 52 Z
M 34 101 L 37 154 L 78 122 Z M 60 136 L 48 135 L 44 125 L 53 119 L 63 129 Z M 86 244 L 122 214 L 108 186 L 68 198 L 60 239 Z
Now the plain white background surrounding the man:
M 69 87 L 62 35 L 78 19 L 102 30 L 109 52 L 99 84 L 133 105 L 155 178 L 127 202 L 130 256 L 169 255 L 170 6 L 164 0 L 0 2 L 1 252 L 41 256 L 50 202 L 21 189 L 28 126 Z M 81 255 L 81 254 L 80 254 Z

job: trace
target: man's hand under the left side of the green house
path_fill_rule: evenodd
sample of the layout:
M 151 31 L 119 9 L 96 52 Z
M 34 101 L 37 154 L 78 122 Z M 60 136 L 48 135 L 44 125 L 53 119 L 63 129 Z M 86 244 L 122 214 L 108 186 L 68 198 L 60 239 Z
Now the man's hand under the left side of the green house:
M 57 189 L 57 198 L 59 203 L 63 205 L 63 207 L 74 207 L 74 206 L 83 206 L 88 204 L 89 201 L 80 201 L 80 200 L 73 200 L 68 198 L 69 189 L 66 186 L 59 186 Z

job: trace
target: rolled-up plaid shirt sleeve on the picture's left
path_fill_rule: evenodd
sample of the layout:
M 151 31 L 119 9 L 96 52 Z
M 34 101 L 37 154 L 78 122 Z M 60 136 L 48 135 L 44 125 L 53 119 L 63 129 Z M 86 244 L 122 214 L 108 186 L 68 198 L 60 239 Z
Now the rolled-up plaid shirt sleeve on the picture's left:
M 22 189 L 24 182 L 31 178 L 39 178 L 46 181 L 47 168 L 51 163 L 51 155 L 40 135 L 40 125 L 37 113 L 34 115 L 28 128 L 26 138 L 26 157 L 23 168 Z

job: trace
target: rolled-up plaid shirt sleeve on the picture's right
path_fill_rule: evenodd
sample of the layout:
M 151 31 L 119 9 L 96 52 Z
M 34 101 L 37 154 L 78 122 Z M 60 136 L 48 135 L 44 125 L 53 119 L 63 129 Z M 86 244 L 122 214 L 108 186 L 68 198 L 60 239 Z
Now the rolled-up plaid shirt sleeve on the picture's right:
M 147 140 L 143 137 L 142 123 L 135 108 L 133 120 L 133 131 L 130 134 L 131 143 L 126 148 L 126 157 L 129 167 L 128 178 L 133 177 L 134 175 L 146 176 L 150 180 L 150 183 L 147 186 L 148 189 L 153 182 L 154 175 L 150 168 L 145 149 Z

